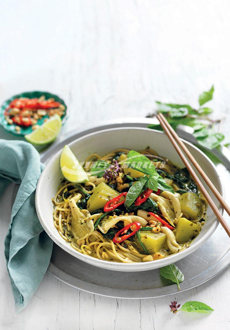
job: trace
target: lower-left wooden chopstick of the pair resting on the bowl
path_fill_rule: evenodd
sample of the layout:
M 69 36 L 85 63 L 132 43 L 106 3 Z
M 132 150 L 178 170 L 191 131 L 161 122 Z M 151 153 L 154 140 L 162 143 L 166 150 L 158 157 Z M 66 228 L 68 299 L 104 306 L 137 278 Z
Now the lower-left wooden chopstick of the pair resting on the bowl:
M 224 217 L 220 214 L 220 212 L 217 209 L 217 207 L 216 207 L 215 203 L 213 202 L 212 198 L 209 196 L 207 190 L 205 189 L 205 187 L 203 186 L 203 184 L 201 183 L 201 181 L 197 177 L 197 175 L 194 172 L 194 170 L 193 170 L 192 166 L 190 165 L 189 161 L 187 160 L 187 158 L 185 157 L 185 155 L 181 151 L 180 147 L 178 146 L 177 142 L 178 142 L 178 140 L 180 140 L 179 136 L 175 133 L 178 138 L 177 138 L 177 140 L 174 139 L 174 135 L 172 135 L 171 131 L 169 130 L 169 126 L 170 125 L 168 124 L 167 120 L 165 119 L 165 117 L 161 113 L 157 115 L 157 118 L 160 121 L 160 124 L 161 124 L 162 128 L 164 129 L 164 131 L 166 132 L 166 135 L 168 136 L 169 140 L 171 141 L 173 147 L 176 149 L 176 151 L 179 154 L 180 158 L 182 159 L 183 163 L 185 164 L 185 166 L 187 167 L 188 171 L 190 172 L 193 180 L 198 185 L 200 191 L 203 193 L 203 195 L 206 198 L 208 204 L 210 205 L 211 209 L 215 213 L 217 219 L 219 220 L 219 222 L 223 226 L 224 230 L 226 231 L 226 233 L 230 237 L 230 226 L 227 224 L 227 222 L 225 221 Z M 181 141 L 181 143 L 183 143 L 183 142 Z M 195 159 L 194 159 L 193 165 L 197 169 L 197 162 L 195 161 Z M 201 176 L 202 176 L 202 174 L 201 174 Z M 210 187 L 210 189 L 213 191 L 212 187 Z M 214 191 L 213 191 L 213 193 L 214 193 Z M 221 202 L 220 202 L 220 204 L 224 207 L 224 205 Z

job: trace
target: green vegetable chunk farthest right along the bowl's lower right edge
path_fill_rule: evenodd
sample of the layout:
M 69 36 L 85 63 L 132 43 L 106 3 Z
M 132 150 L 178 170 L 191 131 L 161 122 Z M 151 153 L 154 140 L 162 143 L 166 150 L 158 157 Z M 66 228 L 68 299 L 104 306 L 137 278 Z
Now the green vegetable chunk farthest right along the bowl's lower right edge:
M 180 218 L 176 225 L 175 238 L 178 243 L 188 242 L 192 236 L 199 234 L 199 225 L 186 218 Z

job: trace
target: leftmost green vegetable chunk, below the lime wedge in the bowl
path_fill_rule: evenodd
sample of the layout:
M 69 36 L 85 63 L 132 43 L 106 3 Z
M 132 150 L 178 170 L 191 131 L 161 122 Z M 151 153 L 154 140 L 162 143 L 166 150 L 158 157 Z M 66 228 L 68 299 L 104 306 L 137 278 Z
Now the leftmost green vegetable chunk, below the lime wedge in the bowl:
M 101 182 L 90 196 L 87 202 L 87 209 L 90 213 L 97 209 L 101 209 L 108 201 L 116 196 L 119 196 L 119 193 L 116 190 L 109 187 L 105 182 Z

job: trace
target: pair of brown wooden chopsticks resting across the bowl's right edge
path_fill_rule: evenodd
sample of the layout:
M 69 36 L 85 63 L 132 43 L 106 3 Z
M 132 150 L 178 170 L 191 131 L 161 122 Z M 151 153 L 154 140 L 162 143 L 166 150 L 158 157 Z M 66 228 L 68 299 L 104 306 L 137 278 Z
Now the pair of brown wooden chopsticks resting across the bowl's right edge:
M 220 202 L 220 204 L 222 205 L 222 207 L 225 209 L 225 211 L 228 213 L 228 215 L 230 215 L 230 207 L 227 205 L 227 203 L 225 202 L 225 200 L 223 199 L 223 197 L 220 195 L 220 193 L 218 192 L 218 190 L 216 189 L 216 187 L 213 185 L 213 183 L 210 181 L 210 179 L 204 173 L 204 171 L 202 170 L 202 168 L 200 167 L 200 165 L 197 163 L 197 161 L 195 160 L 195 158 L 192 156 L 192 154 L 190 153 L 190 151 L 185 146 L 185 144 L 182 142 L 182 140 L 179 138 L 179 136 L 173 130 L 173 128 L 171 127 L 171 125 L 167 122 L 166 118 L 161 113 L 159 113 L 157 115 L 157 118 L 160 121 L 161 127 L 166 132 L 166 135 L 168 136 L 169 140 L 171 141 L 173 147 L 176 149 L 176 151 L 179 154 L 180 158 L 182 159 L 183 163 L 185 164 L 185 166 L 187 167 L 188 171 L 190 172 L 193 180 L 198 185 L 200 191 L 203 193 L 203 195 L 206 198 L 208 204 L 210 205 L 211 209 L 215 213 L 217 219 L 219 220 L 219 222 L 221 223 L 221 225 L 225 229 L 226 233 L 230 237 L 230 226 L 225 221 L 224 217 L 220 214 L 219 210 L 217 209 L 217 206 L 215 205 L 214 201 L 209 196 L 207 190 L 205 189 L 205 187 L 203 186 L 203 184 L 201 183 L 201 181 L 197 177 L 196 173 L 194 172 L 192 166 L 190 165 L 189 161 L 185 157 L 184 153 L 190 159 L 190 161 L 192 162 L 192 164 L 195 167 L 195 169 L 199 172 L 199 174 L 201 175 L 201 177 L 204 179 L 204 181 L 207 183 L 207 185 L 212 190 L 212 192 L 214 193 L 214 195 L 217 197 L 218 201 Z M 181 149 L 180 149 L 179 146 L 184 151 L 184 153 L 181 151 Z

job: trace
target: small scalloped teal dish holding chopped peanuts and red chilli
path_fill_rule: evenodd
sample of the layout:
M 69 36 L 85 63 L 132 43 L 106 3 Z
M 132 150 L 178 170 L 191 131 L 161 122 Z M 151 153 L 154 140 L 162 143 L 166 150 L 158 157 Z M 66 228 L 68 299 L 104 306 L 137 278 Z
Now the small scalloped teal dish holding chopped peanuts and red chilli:
M 64 105 L 65 107 L 65 111 L 64 111 L 64 115 L 61 117 L 62 118 L 62 124 L 65 123 L 66 119 L 67 119 L 67 106 L 64 103 L 64 100 L 62 100 L 59 96 L 55 95 L 55 94 L 51 94 L 49 92 L 42 92 L 42 91 L 33 91 L 33 92 L 24 92 L 18 95 L 14 95 L 12 96 L 10 99 L 6 100 L 3 105 L 0 108 L 0 125 L 3 126 L 3 128 L 9 132 L 12 133 L 16 136 L 24 136 L 26 134 L 29 134 L 32 132 L 32 126 L 29 127 L 21 127 L 21 131 L 20 133 L 17 133 L 17 131 L 15 130 L 15 126 L 17 126 L 16 124 L 8 124 L 8 122 L 5 119 L 5 110 L 9 107 L 10 103 L 12 100 L 17 99 L 19 97 L 29 97 L 30 99 L 35 98 L 35 97 L 40 97 L 44 95 L 46 100 L 49 98 L 54 98 L 55 101 L 60 102 L 61 104 Z M 48 116 L 44 116 L 42 119 L 38 119 L 38 123 L 37 125 L 41 125 L 44 121 L 45 118 L 49 118 Z

